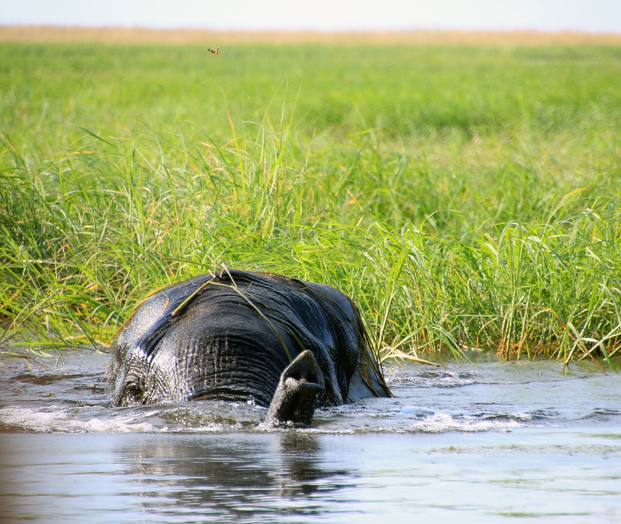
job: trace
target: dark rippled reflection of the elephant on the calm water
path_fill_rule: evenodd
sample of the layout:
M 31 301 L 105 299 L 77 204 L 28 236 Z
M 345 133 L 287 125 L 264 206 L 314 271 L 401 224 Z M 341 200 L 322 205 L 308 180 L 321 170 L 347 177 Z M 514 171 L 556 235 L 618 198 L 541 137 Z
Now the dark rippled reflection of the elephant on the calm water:
M 134 477 L 140 496 L 148 500 L 157 495 L 145 507 L 174 507 L 197 516 L 207 511 L 225 522 L 265 517 L 274 510 L 320 513 L 321 505 L 312 502 L 312 495 L 346 485 L 342 477 L 347 472 L 320 467 L 316 435 L 231 437 L 209 438 L 207 445 L 203 438 L 184 439 L 183 445 L 170 438 L 157 443 L 139 440 L 123 448 L 120 456 L 129 459 L 127 473 Z M 169 500 L 163 503 L 161 497 Z M 298 503 L 283 508 L 283 499 Z

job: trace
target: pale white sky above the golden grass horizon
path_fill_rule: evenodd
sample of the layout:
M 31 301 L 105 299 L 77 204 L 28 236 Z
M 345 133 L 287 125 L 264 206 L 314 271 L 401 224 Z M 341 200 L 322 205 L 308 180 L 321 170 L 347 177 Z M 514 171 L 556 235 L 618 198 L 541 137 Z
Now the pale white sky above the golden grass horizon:
M 621 0 L 0 0 L 0 25 L 621 33 Z

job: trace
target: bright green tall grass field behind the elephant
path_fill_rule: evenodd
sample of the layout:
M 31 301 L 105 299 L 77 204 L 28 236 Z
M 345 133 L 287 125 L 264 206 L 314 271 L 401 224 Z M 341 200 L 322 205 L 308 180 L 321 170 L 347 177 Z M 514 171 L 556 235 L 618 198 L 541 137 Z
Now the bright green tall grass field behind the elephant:
M 0 43 L 4 350 L 101 347 L 225 264 L 350 293 L 383 357 L 608 358 L 620 73 L 619 47 Z

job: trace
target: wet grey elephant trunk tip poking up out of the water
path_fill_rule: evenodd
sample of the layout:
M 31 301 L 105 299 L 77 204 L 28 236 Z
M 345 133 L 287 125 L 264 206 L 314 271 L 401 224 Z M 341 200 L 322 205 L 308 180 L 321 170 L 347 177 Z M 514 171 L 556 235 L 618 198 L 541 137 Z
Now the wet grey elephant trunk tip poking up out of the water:
M 315 357 L 312 352 L 303 351 L 280 376 L 265 422 L 271 425 L 286 422 L 311 425 L 317 394 L 324 387 L 324 374 Z

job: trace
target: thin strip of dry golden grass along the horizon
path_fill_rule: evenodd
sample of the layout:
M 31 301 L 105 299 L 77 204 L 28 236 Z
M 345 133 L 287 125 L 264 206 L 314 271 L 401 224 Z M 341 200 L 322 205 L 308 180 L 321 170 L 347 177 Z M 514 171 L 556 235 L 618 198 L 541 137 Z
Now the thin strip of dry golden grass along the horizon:
M 324 43 L 369 45 L 621 45 L 620 33 L 574 31 L 256 31 L 147 29 L 144 27 L 0 26 L 0 42 L 104 42 L 129 44 Z

